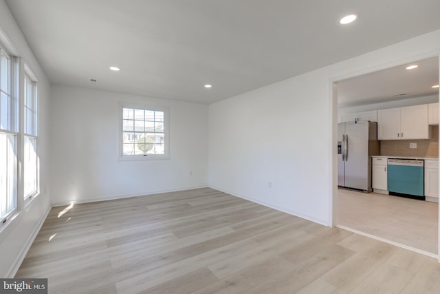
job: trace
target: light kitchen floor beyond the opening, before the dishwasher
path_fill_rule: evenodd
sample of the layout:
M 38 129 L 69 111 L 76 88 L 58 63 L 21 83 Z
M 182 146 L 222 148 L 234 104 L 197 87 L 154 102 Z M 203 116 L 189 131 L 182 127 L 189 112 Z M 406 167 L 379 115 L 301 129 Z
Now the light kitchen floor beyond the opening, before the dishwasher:
M 338 189 L 338 225 L 437 254 L 439 204 Z

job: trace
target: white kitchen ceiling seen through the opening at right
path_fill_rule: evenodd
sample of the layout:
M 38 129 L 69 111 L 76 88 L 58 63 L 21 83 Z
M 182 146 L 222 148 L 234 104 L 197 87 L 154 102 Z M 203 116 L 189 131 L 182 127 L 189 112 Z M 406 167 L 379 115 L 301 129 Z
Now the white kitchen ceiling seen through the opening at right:
M 406 70 L 408 65 L 419 65 Z M 338 106 L 349 107 L 439 93 L 439 57 L 414 61 L 338 83 Z

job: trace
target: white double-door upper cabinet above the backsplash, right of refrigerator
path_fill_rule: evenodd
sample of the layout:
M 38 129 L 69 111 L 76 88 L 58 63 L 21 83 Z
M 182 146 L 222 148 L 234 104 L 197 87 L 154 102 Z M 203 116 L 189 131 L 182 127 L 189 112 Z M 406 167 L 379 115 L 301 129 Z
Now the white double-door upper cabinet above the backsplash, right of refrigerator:
M 377 111 L 378 140 L 428 139 L 428 104 Z

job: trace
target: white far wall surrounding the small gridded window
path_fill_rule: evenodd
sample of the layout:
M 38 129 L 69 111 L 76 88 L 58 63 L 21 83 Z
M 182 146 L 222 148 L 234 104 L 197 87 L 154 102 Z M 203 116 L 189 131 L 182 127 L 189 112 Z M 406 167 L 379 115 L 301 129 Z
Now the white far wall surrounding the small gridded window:
M 51 97 L 52 204 L 208 185 L 207 105 L 61 85 Z M 169 160 L 118 160 L 119 103 L 169 107 Z

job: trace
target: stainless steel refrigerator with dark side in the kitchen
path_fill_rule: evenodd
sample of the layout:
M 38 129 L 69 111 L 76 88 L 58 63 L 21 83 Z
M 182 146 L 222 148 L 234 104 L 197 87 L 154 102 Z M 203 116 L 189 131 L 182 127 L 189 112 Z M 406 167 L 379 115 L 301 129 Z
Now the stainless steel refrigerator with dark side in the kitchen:
M 338 186 L 371 192 L 371 156 L 380 155 L 377 123 L 338 123 Z

